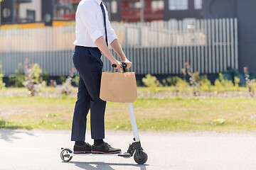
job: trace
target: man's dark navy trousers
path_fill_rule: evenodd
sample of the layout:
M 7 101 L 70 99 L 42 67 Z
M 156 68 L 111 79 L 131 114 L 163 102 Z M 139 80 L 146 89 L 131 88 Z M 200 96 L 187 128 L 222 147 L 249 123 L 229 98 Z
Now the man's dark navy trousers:
M 80 74 L 78 101 L 75 103 L 71 140 L 85 141 L 87 114 L 90 110 L 92 139 L 105 138 L 106 102 L 100 99 L 100 80 L 103 63 L 97 48 L 75 46 L 73 63 Z

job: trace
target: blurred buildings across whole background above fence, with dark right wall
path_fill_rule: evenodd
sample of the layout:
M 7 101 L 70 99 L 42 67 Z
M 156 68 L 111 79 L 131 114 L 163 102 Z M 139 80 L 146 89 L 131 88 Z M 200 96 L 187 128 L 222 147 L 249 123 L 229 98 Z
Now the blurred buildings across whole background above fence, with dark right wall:
M 74 21 L 79 1 L 5 0 L 1 2 L 1 23 L 58 26 L 55 21 Z M 239 70 L 242 72 L 247 66 L 256 73 L 255 0 L 144 0 L 143 4 L 140 1 L 104 0 L 111 21 L 238 18 Z

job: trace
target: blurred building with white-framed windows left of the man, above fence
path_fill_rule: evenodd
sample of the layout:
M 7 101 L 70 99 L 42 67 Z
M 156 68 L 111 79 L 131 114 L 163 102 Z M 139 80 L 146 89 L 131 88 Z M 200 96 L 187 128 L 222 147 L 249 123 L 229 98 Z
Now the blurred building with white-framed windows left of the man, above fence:
M 44 23 L 65 21 L 65 15 L 74 13 L 71 0 L 5 0 L 1 2 L 1 25 L 16 23 Z M 42 26 L 42 25 L 33 25 Z

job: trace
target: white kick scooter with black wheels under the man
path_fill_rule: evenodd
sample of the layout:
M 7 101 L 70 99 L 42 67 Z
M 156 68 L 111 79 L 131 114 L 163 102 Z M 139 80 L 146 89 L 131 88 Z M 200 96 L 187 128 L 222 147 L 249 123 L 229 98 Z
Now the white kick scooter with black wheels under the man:
M 117 65 L 112 64 L 112 67 L 117 67 Z M 127 67 L 127 64 L 123 62 L 122 69 L 124 72 L 127 72 L 126 67 Z M 127 105 L 129 110 L 129 117 L 132 123 L 132 132 L 134 134 L 134 139 L 133 139 L 134 142 L 129 145 L 127 152 L 119 153 L 119 154 L 92 154 L 92 153 L 74 154 L 71 149 L 62 147 L 61 148 L 62 151 L 60 152 L 60 158 L 63 159 L 64 162 L 69 162 L 75 156 L 117 156 L 117 157 L 124 157 L 124 158 L 130 158 L 133 156 L 134 161 L 137 162 L 137 164 L 144 164 L 147 161 L 148 156 L 146 152 L 143 151 L 141 142 L 139 140 L 139 132 L 137 128 L 137 123 L 136 123 L 132 103 L 127 103 Z

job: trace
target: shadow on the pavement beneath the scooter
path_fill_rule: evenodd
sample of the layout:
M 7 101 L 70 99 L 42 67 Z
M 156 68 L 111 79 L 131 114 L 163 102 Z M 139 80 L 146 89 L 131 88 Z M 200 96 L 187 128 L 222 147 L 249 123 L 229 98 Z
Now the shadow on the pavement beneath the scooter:
M 133 167 L 139 167 L 141 170 L 146 170 L 146 166 L 149 166 L 148 164 L 115 164 L 115 163 L 105 163 L 105 162 L 65 162 L 67 164 L 75 164 L 75 166 L 80 167 L 81 169 L 85 170 L 115 170 L 111 166 L 133 166 Z

